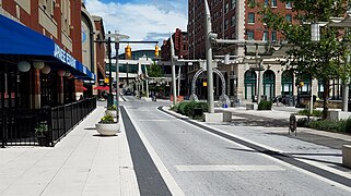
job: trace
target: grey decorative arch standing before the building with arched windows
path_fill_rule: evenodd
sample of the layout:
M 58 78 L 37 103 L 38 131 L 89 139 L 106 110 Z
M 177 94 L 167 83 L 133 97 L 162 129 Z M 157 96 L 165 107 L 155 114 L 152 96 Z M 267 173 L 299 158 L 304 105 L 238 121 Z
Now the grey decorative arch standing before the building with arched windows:
M 196 95 L 196 81 L 203 72 L 206 72 L 206 70 L 203 68 L 201 68 L 200 70 L 198 70 L 196 72 L 196 74 L 192 77 L 190 100 L 199 101 L 198 96 Z M 221 105 L 222 106 L 226 105 L 227 107 L 230 107 L 231 100 L 230 100 L 229 96 L 225 95 L 225 78 L 224 78 L 223 74 L 218 69 L 213 69 L 213 73 L 215 73 L 219 77 L 221 77 L 221 81 L 222 81 L 222 95 L 220 97 Z

